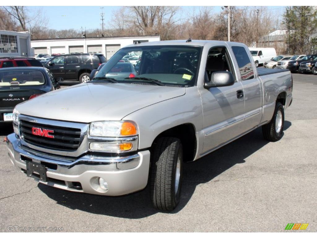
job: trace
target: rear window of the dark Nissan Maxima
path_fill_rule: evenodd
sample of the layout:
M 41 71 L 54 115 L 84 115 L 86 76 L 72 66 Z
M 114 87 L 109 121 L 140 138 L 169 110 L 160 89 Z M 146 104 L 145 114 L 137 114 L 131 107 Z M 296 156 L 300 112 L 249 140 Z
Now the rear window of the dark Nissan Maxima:
M 44 83 L 44 75 L 40 71 L 12 70 L 0 72 L 0 86 L 30 86 Z

